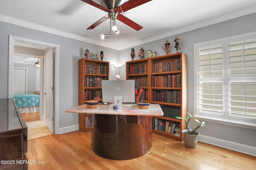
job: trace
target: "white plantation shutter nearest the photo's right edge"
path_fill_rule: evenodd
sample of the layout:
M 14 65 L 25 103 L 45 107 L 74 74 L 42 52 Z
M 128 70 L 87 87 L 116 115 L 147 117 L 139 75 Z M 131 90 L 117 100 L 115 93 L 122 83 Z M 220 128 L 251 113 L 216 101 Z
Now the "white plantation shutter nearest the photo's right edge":
M 256 117 L 256 40 L 229 44 L 230 114 Z

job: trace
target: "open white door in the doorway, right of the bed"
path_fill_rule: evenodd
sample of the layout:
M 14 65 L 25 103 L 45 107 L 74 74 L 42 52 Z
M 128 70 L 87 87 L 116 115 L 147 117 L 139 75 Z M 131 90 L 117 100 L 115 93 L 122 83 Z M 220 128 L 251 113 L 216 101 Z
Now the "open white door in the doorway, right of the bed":
M 46 127 L 54 133 L 54 60 L 53 50 L 44 56 L 44 115 Z

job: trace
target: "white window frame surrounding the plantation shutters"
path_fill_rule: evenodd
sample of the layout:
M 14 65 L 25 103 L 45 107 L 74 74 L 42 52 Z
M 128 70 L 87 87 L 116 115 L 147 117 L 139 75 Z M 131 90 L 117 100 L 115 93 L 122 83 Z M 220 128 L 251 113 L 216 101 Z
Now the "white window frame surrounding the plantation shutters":
M 239 127 L 246 127 L 250 129 L 256 129 L 256 119 L 247 118 L 247 117 L 238 117 L 230 115 L 230 76 L 229 76 L 229 44 L 238 42 L 238 41 L 246 41 L 248 39 L 256 39 L 256 32 L 246 33 L 242 35 L 236 35 L 232 37 L 226 37 L 222 39 L 216 39 L 212 41 L 205 41 L 201 43 L 194 44 L 194 115 L 201 120 L 207 120 L 215 123 L 223 123 L 229 124 Z M 199 77 L 199 49 L 204 47 L 213 47 L 217 45 L 222 45 L 222 53 L 223 53 L 223 114 L 220 115 L 212 115 L 211 113 L 203 113 L 200 112 L 200 77 Z M 211 78 L 210 81 L 220 80 L 221 78 Z M 233 78 L 231 78 L 233 79 Z M 239 78 L 238 78 L 239 79 Z M 207 78 L 201 78 L 201 80 L 207 80 Z M 244 80 L 249 80 L 256 82 L 256 76 L 246 77 Z

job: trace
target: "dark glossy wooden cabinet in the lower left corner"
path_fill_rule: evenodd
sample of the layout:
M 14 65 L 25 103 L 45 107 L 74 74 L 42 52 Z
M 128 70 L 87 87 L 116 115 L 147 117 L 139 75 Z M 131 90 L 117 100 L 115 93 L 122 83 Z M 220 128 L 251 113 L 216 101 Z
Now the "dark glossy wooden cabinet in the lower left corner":
M 28 127 L 12 99 L 0 99 L 0 169 L 28 169 Z

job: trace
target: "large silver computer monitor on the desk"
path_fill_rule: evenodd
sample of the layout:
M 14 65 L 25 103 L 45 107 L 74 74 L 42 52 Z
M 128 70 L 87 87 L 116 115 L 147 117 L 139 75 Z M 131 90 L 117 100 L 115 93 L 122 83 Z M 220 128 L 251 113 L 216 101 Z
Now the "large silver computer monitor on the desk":
M 135 80 L 102 80 L 102 102 L 135 103 Z

